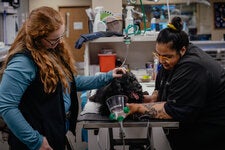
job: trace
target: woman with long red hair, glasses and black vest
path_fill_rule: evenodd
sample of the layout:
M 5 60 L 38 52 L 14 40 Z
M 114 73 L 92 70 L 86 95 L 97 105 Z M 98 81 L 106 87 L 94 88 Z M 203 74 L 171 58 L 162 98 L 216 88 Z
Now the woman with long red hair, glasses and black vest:
M 77 91 L 100 88 L 126 72 L 78 76 L 64 34 L 59 12 L 40 7 L 9 49 L 0 72 L 0 115 L 10 129 L 10 150 L 64 150 L 67 131 L 75 133 Z

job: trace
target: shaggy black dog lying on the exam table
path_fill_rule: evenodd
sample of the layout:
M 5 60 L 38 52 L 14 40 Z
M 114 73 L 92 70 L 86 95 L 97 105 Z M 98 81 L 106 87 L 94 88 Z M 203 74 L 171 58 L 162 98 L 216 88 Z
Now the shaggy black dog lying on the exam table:
M 111 83 L 98 89 L 89 100 L 100 103 L 99 113 L 107 116 L 110 112 L 106 100 L 114 95 L 126 95 L 128 97 L 127 103 L 142 103 L 144 92 L 135 75 L 127 72 L 121 78 L 114 78 Z

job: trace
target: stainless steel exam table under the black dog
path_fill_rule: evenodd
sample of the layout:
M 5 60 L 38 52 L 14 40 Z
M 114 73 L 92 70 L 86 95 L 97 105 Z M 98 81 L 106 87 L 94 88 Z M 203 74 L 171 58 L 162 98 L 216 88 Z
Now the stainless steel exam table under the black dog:
M 82 123 L 84 129 L 94 130 L 95 134 L 98 134 L 98 129 L 100 128 L 108 128 L 109 131 L 109 141 L 110 141 L 110 150 L 114 150 L 114 146 L 123 145 L 125 141 L 125 145 L 129 144 L 141 144 L 141 145 L 151 145 L 150 137 L 147 138 L 133 138 L 133 139 L 115 139 L 113 136 L 113 128 L 120 128 L 120 124 L 117 121 L 111 121 L 106 116 L 101 116 L 99 114 L 80 114 L 78 116 L 78 122 Z M 132 128 L 132 127 L 149 127 L 148 135 L 151 135 L 152 127 L 163 127 L 163 128 L 179 128 L 179 122 L 173 120 L 162 120 L 162 119 L 151 119 L 149 121 L 134 121 L 134 120 L 124 120 L 123 121 L 124 128 Z

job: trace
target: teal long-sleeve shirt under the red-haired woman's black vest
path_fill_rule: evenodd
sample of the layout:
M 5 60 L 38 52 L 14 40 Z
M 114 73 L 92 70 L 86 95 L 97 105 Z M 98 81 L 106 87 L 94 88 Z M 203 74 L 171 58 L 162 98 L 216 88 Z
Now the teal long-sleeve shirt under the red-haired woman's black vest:
M 36 72 L 37 66 L 30 58 L 17 54 L 8 63 L 0 83 L 0 115 L 10 130 L 31 150 L 40 148 L 43 136 L 29 125 L 18 106 L 23 93 L 35 79 Z M 76 76 L 76 88 L 77 91 L 98 89 L 112 79 L 112 71 L 98 76 Z M 63 98 L 67 112 L 71 105 L 69 93 L 63 93 Z

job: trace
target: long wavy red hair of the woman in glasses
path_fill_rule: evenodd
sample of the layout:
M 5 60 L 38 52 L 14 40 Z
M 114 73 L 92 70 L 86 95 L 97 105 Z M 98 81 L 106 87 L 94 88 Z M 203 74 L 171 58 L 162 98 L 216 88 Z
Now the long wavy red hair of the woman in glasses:
M 69 82 L 77 74 L 71 51 L 64 41 L 53 50 L 47 50 L 41 42 L 41 39 L 59 29 L 63 24 L 60 13 L 53 8 L 44 6 L 33 10 L 9 49 L 0 75 L 2 76 L 9 60 L 15 54 L 28 50 L 38 66 L 46 93 L 54 92 L 58 82 L 62 83 L 64 90 L 70 91 Z

